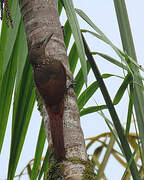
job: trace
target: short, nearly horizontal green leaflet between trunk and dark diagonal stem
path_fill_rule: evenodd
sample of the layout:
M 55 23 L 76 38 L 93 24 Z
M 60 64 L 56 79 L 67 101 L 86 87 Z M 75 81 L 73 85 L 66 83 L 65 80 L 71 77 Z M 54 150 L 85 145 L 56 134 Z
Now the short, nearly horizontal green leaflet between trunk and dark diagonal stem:
M 97 111 L 101 111 L 101 110 L 104 110 L 104 109 L 107 109 L 106 105 L 91 106 L 91 107 L 88 107 L 88 108 L 83 108 L 80 111 L 80 116 L 82 117 L 84 115 L 87 115 L 87 114 L 90 114 L 90 113 L 94 113 L 94 112 L 97 112 Z

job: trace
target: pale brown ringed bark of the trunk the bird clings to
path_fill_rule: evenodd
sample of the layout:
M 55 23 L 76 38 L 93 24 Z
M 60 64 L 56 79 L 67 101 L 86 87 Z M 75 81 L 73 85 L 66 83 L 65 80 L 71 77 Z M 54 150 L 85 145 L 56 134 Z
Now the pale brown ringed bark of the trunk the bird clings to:
M 55 0 L 19 0 L 21 13 L 24 21 L 25 31 L 29 50 L 35 44 L 41 43 L 50 33 L 53 36 L 47 44 L 46 55 L 60 61 L 65 69 L 67 84 L 71 81 L 68 58 L 66 54 L 63 33 L 59 22 L 57 3 Z M 45 59 L 46 61 L 46 59 Z M 52 144 L 49 131 L 49 117 L 43 107 L 43 119 L 45 124 L 46 136 L 49 145 Z M 77 106 L 77 98 L 73 88 L 70 88 L 64 97 L 63 115 L 64 145 L 66 158 L 77 157 L 87 161 L 83 132 L 80 126 L 80 116 Z M 81 163 L 73 164 L 64 161 L 63 176 L 65 179 L 82 179 L 85 165 Z

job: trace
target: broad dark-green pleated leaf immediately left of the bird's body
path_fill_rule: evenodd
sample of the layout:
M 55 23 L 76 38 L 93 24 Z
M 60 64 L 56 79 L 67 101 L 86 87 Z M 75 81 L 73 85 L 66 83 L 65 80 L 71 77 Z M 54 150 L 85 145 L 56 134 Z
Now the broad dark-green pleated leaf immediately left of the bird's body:
M 27 59 L 21 83 L 14 96 L 12 140 L 8 168 L 8 180 L 14 178 L 19 157 L 24 144 L 30 117 L 35 103 L 35 89 L 32 69 Z

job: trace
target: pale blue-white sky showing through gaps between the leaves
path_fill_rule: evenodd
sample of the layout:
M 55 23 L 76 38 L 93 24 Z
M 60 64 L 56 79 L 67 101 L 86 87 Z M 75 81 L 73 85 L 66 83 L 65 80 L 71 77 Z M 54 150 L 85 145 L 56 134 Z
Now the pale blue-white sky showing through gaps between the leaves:
M 122 49 L 114 4 L 112 0 L 100 0 L 100 1 L 74 0 L 74 6 L 76 8 L 82 9 L 88 15 L 88 17 L 106 34 L 106 36 L 117 47 Z M 132 35 L 134 38 L 134 44 L 136 48 L 138 62 L 139 64 L 144 66 L 144 61 L 143 61 L 144 59 L 144 50 L 143 50 L 144 24 L 142 21 L 142 17 L 144 13 L 143 11 L 144 1 L 143 0 L 139 0 L 139 1 L 126 0 L 126 6 L 127 6 L 128 15 L 129 15 Z M 91 30 L 91 28 L 81 18 L 78 17 L 78 20 L 79 20 L 80 27 L 82 29 Z M 61 23 L 63 24 L 64 21 L 65 21 L 65 14 L 63 14 L 61 18 Z M 108 47 L 107 45 L 105 45 L 100 40 L 93 38 L 93 36 L 91 35 L 86 35 L 86 39 L 92 51 L 102 52 L 118 59 L 118 57 L 112 51 L 112 49 Z M 112 73 L 112 74 L 117 74 L 121 76 L 123 75 L 123 72 L 121 69 L 106 62 L 104 59 L 97 56 L 95 57 L 95 59 L 101 73 Z M 88 85 L 91 84 L 91 82 L 93 82 L 94 80 L 95 79 L 94 79 L 93 74 L 90 73 L 90 76 L 88 77 Z M 108 79 L 105 82 L 111 94 L 111 97 L 113 98 L 118 87 L 120 86 L 121 81 L 118 78 L 113 78 L 113 79 Z M 104 100 L 102 98 L 100 91 L 98 91 L 95 94 L 95 96 L 91 98 L 91 101 L 87 105 L 88 106 L 95 105 L 95 101 L 98 104 L 104 104 Z M 117 112 L 118 112 L 118 115 L 122 124 L 125 125 L 126 111 L 127 111 L 127 94 L 124 95 L 124 100 L 119 103 L 116 109 L 117 109 Z M 109 114 L 106 111 L 104 112 L 110 119 Z M 0 155 L 0 162 L 1 162 L 0 163 L 0 180 L 6 179 L 8 155 L 9 155 L 9 149 L 10 149 L 10 137 L 11 137 L 11 120 L 12 120 L 11 117 L 12 117 L 12 111 L 10 112 L 7 131 L 6 131 L 6 137 L 5 137 L 2 153 Z M 24 148 L 22 150 L 22 155 L 20 157 L 20 161 L 19 161 L 20 163 L 17 168 L 17 173 L 20 173 L 21 170 L 27 165 L 27 163 L 34 157 L 35 146 L 37 142 L 37 136 L 38 136 L 38 132 L 40 128 L 40 123 L 41 123 L 41 117 L 35 105 L 31 122 L 29 125 L 29 129 L 28 129 L 28 133 L 26 136 L 26 140 L 24 143 Z M 93 113 L 91 115 L 82 117 L 81 126 L 83 129 L 85 138 L 97 136 L 102 132 L 109 131 L 105 121 L 97 113 Z M 92 153 L 93 149 L 94 147 L 91 149 L 91 151 L 89 151 L 89 153 Z M 108 166 L 106 167 L 106 170 L 105 170 L 105 174 L 108 180 L 114 180 L 114 179 L 120 180 L 123 172 L 124 172 L 124 169 L 111 156 Z M 28 180 L 28 177 L 24 176 L 21 179 Z

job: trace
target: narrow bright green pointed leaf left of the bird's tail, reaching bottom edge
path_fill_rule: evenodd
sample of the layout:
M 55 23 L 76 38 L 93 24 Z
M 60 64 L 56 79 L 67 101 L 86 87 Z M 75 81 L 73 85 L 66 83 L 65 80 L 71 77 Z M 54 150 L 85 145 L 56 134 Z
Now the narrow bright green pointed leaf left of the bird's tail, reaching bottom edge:
M 41 128 L 39 131 L 37 147 L 36 147 L 36 151 L 35 151 L 34 164 L 33 164 L 32 172 L 31 172 L 31 178 L 30 178 L 31 180 L 37 179 L 45 140 L 46 140 L 45 129 L 44 129 L 44 123 L 42 120 Z

